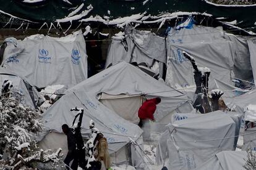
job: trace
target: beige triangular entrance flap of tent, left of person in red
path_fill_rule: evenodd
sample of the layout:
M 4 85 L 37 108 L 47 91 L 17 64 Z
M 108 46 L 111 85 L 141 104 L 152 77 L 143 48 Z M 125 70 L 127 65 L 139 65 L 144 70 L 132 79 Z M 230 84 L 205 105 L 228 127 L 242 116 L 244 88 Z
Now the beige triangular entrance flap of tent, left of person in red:
M 98 99 L 103 105 L 116 112 L 117 115 L 138 124 L 140 121 L 138 110 L 142 105 L 143 98 L 142 95 L 111 95 L 102 92 Z

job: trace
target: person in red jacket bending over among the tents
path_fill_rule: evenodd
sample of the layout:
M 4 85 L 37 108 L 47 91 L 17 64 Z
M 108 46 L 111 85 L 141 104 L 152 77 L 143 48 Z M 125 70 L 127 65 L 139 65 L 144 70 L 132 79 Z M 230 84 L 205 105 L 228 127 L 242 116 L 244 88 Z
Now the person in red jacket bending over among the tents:
M 156 110 L 156 105 L 161 102 L 160 97 L 156 97 L 154 99 L 146 100 L 142 103 L 142 106 L 139 108 L 138 116 L 140 118 L 140 123 L 138 124 L 140 127 L 143 126 L 143 121 L 147 121 L 147 119 L 151 119 L 155 121 L 154 113 Z

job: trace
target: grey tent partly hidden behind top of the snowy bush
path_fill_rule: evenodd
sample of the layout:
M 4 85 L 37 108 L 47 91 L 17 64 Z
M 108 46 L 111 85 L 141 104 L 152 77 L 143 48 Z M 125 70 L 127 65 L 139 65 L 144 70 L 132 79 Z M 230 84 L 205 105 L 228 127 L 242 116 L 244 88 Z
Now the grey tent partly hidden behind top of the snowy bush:
M 20 77 L 15 75 L 15 73 L 12 73 L 11 70 L 0 68 L 0 91 L 5 79 L 12 82 L 14 92 L 20 92 L 23 94 L 23 104 L 32 108 L 36 107 L 38 94 L 36 89 L 28 83 L 27 79 L 22 78 L 22 76 Z

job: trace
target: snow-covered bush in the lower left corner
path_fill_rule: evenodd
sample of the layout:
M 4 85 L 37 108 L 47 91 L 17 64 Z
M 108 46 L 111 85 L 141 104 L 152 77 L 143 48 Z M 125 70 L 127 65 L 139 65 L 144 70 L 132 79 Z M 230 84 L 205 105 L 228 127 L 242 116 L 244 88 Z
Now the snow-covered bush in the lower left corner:
M 23 95 L 4 81 L 0 96 L 0 169 L 33 168 L 35 161 L 58 160 L 58 153 L 39 150 L 32 134 L 42 130 L 40 113 L 23 105 Z M 8 87 L 7 87 L 8 86 Z M 36 166 L 35 166 L 36 167 Z

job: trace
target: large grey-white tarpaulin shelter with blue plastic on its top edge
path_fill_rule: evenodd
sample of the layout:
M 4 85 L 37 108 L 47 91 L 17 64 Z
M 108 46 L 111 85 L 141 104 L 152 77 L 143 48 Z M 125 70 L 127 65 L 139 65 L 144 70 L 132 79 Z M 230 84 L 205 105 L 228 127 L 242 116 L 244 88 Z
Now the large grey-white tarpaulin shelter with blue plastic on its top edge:
M 235 63 L 245 63 L 244 60 L 249 61 L 249 57 L 243 56 L 241 51 L 240 53 L 235 51 L 236 44 L 225 39 L 223 31 L 193 25 L 192 18 L 188 18 L 185 23 L 188 26 L 177 26 L 178 28 L 171 29 L 168 33 L 166 82 L 172 87 L 187 87 L 195 84 L 192 64 L 182 54 L 182 51 L 185 51 L 194 57 L 198 67 L 210 68 L 209 89 L 220 89 L 225 91 L 224 97 L 233 97 L 235 94 L 232 90 L 236 89 L 232 82 L 236 76 L 233 72 L 236 69 Z M 248 70 L 250 71 L 250 67 Z M 236 73 L 240 72 L 241 69 L 236 71 Z

